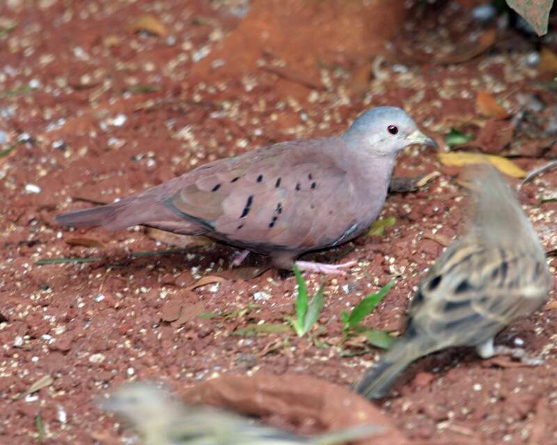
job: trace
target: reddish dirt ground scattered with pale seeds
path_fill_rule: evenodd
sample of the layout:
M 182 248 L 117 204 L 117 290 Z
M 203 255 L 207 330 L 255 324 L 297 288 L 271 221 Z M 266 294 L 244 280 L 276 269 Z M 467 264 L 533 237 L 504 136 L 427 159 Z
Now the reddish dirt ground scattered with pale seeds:
M 404 106 L 441 150 L 455 128 L 477 136 L 465 151 L 503 155 L 525 171 L 557 156 L 556 31 L 540 42 L 473 22 L 464 8 L 473 1 L 425 10 L 418 2 L 389 15 L 396 32 L 382 32 L 392 40 L 375 58 L 362 43 L 365 26 L 327 26 L 325 15 L 320 42 L 304 46 L 311 33 L 297 34 L 301 20 L 272 22 L 262 3 L 253 17 L 240 0 L 0 2 L 1 444 L 124 443 L 131 433 L 95 398 L 127 380 L 162 380 L 178 391 L 225 374 L 304 374 L 350 388 L 381 351 L 358 339 L 343 345 L 341 312 L 395 277 L 365 325 L 400 332 L 416 284 L 460 232 L 466 190 L 457 184 L 460 168 L 433 150 L 402 153 L 395 176 L 438 175 L 389 195 L 381 218 L 395 224 L 382 236 L 321 255 L 358 264 L 327 277 L 320 323 L 302 338 L 253 327 L 286 326 L 294 311 L 295 278 L 272 269 L 258 275 L 265 259 L 251 255 L 230 270 L 233 250 L 223 245 L 139 227 L 64 229 L 57 213 L 261 145 L 338 134 L 382 104 Z M 306 13 L 311 5 L 316 17 L 323 13 L 308 4 Z M 335 15 L 362 23 L 357 9 Z M 269 38 L 276 51 L 249 40 L 266 24 L 276 36 L 277 23 L 287 27 Z M 345 47 L 331 50 L 327 33 Z M 281 54 L 284 35 L 297 44 Z M 238 46 L 242 38 L 251 45 Z M 554 275 L 556 191 L 553 171 L 519 192 Z M 141 253 L 173 244 L 187 252 Z M 93 260 L 36 264 L 61 257 Z M 321 277 L 306 280 L 313 290 Z M 446 350 L 413 364 L 376 406 L 416 443 L 557 444 L 554 298 L 552 291 L 544 309 L 497 338 L 541 355 L 542 365 Z

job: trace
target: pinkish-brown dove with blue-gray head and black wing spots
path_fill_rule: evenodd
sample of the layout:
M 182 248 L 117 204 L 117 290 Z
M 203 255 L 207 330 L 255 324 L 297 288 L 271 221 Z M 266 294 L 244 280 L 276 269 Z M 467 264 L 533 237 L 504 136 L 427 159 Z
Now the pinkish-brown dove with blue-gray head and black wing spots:
M 56 220 L 210 236 L 291 269 L 300 254 L 345 243 L 369 227 L 385 202 L 398 152 L 413 144 L 436 145 L 405 111 L 380 106 L 363 113 L 343 136 L 293 140 L 220 159 Z M 300 270 L 320 273 L 343 273 L 351 264 L 297 261 Z

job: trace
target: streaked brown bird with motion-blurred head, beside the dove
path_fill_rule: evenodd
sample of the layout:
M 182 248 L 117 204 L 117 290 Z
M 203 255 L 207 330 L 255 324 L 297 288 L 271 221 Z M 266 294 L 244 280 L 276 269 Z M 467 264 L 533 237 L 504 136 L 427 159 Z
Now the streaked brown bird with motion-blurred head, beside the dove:
M 450 346 L 492 357 L 495 335 L 547 298 L 552 277 L 530 220 L 499 172 L 473 168 L 471 228 L 430 268 L 409 305 L 405 334 L 356 385 L 366 398 L 386 396 L 411 362 Z

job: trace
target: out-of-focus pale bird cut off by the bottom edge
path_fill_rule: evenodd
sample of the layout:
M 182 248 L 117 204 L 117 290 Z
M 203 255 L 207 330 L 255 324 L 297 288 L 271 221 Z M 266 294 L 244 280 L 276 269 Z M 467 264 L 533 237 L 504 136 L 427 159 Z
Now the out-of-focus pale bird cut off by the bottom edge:
M 382 431 L 379 426 L 359 425 L 300 437 L 231 412 L 187 406 L 144 382 L 123 385 L 100 405 L 130 422 L 143 445 L 334 445 Z

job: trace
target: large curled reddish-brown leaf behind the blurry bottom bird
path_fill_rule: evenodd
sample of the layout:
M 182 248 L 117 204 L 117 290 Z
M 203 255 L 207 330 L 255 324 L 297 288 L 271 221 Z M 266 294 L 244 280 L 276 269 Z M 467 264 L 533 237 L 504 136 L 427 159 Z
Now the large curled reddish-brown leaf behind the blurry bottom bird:
M 317 428 L 317 433 L 361 424 L 381 426 L 382 430 L 361 445 L 408 445 L 406 437 L 393 426 L 379 407 L 349 389 L 326 380 L 299 373 L 275 375 L 224 375 L 205 380 L 181 392 L 189 404 L 203 404 L 255 416 L 275 426 L 292 429 L 300 425 Z

